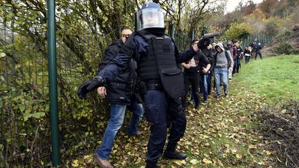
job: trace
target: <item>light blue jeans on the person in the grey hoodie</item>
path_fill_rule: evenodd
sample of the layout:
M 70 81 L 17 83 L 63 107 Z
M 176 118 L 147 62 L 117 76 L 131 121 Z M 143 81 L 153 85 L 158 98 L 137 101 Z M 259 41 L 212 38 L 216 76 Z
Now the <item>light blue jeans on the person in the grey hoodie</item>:
M 216 94 L 221 95 L 220 82 L 224 86 L 224 90 L 228 89 L 228 69 L 225 68 L 214 68 L 215 81 L 216 81 Z

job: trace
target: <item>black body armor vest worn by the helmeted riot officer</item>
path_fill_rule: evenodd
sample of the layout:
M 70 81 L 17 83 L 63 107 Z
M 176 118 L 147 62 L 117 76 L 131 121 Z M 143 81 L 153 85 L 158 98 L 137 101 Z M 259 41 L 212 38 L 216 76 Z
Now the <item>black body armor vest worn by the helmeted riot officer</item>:
M 161 80 L 164 90 L 170 97 L 177 99 L 183 91 L 183 75 L 176 66 L 172 39 L 167 35 L 156 37 L 146 30 L 137 31 L 149 46 L 148 55 L 138 62 L 138 76 L 145 82 Z

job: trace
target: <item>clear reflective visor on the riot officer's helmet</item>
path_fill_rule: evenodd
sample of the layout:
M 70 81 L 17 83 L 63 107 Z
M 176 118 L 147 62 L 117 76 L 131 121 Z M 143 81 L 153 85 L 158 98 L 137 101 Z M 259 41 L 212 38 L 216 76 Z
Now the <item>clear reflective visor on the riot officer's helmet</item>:
M 137 17 L 138 30 L 144 28 L 164 28 L 163 11 L 158 8 L 145 8 L 138 11 Z

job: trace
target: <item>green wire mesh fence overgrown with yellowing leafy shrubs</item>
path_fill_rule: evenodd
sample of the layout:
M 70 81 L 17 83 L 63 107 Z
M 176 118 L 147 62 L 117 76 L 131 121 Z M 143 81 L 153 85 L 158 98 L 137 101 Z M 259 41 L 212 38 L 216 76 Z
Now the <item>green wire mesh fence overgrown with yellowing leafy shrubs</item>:
M 46 18 L 27 9 L 21 14 L 10 7 L 2 11 L 0 167 L 50 166 Z M 76 21 L 75 17 L 71 19 Z M 189 35 L 178 31 L 174 35 L 181 50 L 190 46 Z M 100 138 L 93 137 L 105 131 L 107 104 L 96 93 L 86 101 L 79 100 L 76 91 L 82 82 L 96 75 L 102 53 L 112 39 L 71 27 L 60 19 L 56 37 L 60 152 L 66 158 L 73 156 L 74 150 L 69 149 L 78 151 L 76 155 L 95 149 L 94 139 Z

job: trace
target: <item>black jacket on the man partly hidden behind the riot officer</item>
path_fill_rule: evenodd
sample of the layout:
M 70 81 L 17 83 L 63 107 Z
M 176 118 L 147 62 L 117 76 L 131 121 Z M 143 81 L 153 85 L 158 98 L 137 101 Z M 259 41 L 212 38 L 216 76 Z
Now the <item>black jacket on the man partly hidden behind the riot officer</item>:
M 120 48 L 123 46 L 123 41 L 120 39 L 114 41 L 105 50 L 102 61 L 99 63 L 99 72 L 107 66 L 118 55 Z M 114 80 L 107 81 L 105 87 L 107 88 L 107 95 L 105 100 L 109 103 L 129 105 L 132 96 L 135 96 L 138 102 L 141 98 L 138 94 L 138 87 L 136 86 L 136 62 L 131 59 L 128 68 L 124 73 L 118 75 Z

